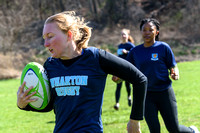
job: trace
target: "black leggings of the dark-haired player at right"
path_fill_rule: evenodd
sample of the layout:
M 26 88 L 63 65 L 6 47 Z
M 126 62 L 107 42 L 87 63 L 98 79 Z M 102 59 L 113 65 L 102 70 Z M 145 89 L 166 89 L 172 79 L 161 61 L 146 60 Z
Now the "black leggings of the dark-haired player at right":
M 160 133 L 158 111 L 160 112 L 165 126 L 170 133 L 192 133 L 190 128 L 179 125 L 177 103 L 172 88 L 162 92 L 147 91 L 145 120 L 150 133 Z

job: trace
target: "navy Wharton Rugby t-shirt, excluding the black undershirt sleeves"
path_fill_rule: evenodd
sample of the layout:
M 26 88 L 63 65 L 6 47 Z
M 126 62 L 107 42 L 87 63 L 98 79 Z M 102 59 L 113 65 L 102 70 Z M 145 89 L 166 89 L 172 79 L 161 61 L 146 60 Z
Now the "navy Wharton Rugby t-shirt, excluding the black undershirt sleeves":
M 103 132 L 100 115 L 107 74 L 100 68 L 98 50 L 85 49 L 69 67 L 55 58 L 49 58 L 44 67 L 54 99 L 54 132 Z

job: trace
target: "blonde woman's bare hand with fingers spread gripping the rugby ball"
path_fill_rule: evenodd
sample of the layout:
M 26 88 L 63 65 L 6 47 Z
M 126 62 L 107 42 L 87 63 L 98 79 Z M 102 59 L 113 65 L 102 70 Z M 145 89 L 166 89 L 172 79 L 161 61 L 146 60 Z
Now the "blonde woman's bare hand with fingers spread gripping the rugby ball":
M 35 102 L 38 99 L 37 98 L 31 98 L 34 94 L 36 94 L 36 91 L 28 94 L 33 87 L 28 88 L 27 90 L 24 91 L 24 86 L 26 82 L 23 82 L 23 84 L 19 87 L 17 91 L 17 106 L 21 109 L 25 108 L 28 103 L 30 102 Z

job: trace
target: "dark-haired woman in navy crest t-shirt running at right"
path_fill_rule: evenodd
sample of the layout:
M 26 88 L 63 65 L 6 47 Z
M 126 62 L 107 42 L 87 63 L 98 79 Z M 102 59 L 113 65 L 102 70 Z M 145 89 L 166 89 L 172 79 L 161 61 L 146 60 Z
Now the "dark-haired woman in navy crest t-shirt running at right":
M 160 23 L 143 19 L 140 30 L 144 43 L 133 48 L 127 60 L 148 79 L 145 120 L 151 133 L 160 133 L 158 112 L 170 133 L 199 133 L 195 126 L 179 125 L 177 103 L 171 79 L 179 79 L 179 70 L 170 46 L 159 40 Z M 169 73 L 169 71 L 170 73 Z

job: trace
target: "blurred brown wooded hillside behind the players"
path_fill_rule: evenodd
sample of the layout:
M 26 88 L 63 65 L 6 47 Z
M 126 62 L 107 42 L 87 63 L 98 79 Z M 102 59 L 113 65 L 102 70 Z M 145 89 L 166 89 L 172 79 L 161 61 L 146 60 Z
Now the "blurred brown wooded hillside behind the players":
M 160 40 L 170 44 L 177 61 L 199 59 L 200 0 L 0 0 L 0 70 L 9 75 L 0 74 L 0 79 L 16 76 L 30 61 L 46 59 L 44 21 L 66 10 L 90 22 L 91 46 L 115 53 L 122 28 L 131 29 L 138 45 L 140 20 L 153 17 L 161 23 Z

